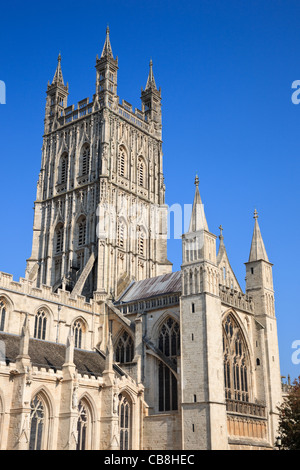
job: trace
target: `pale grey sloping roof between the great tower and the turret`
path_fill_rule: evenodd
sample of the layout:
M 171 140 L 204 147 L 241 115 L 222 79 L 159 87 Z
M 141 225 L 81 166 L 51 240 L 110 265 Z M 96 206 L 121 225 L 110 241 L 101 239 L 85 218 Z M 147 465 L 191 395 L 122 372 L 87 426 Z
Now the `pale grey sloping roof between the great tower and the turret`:
M 151 277 L 132 283 L 118 299 L 118 303 L 149 299 L 164 294 L 181 292 L 181 271 Z

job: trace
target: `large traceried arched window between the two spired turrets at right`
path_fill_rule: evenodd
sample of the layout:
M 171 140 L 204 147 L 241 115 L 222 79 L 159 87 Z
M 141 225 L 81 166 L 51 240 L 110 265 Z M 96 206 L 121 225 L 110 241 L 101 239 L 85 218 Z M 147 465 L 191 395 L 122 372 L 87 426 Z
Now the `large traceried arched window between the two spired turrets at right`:
M 249 354 L 242 331 L 233 315 L 223 323 L 225 397 L 249 401 Z

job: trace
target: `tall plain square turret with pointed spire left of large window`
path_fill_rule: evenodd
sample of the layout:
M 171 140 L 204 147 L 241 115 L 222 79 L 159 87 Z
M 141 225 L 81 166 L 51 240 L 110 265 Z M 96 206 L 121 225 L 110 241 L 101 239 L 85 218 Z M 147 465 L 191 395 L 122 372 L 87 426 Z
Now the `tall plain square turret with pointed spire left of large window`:
M 198 177 L 195 184 L 190 227 L 182 240 L 182 449 L 226 449 L 216 236 L 208 229 Z

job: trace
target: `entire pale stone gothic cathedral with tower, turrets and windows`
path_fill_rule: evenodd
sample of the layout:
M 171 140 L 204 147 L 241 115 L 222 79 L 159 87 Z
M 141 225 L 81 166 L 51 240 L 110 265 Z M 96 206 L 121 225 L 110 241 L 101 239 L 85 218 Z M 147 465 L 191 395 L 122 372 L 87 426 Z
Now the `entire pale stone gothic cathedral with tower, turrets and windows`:
M 117 95 L 109 29 L 93 99 L 47 87 L 32 253 L 0 273 L 1 450 L 272 449 L 281 403 L 272 264 L 254 214 L 243 292 L 195 180 L 167 258 L 161 90 Z M 217 248 L 217 239 L 218 248 Z

